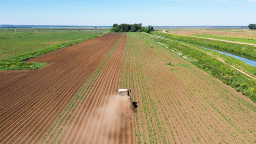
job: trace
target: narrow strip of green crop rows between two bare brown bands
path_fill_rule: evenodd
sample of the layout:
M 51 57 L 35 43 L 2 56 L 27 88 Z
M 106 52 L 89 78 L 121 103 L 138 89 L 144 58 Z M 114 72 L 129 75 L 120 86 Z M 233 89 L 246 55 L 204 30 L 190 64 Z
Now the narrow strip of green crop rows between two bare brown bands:
M 70 100 L 62 114 L 58 116 L 54 124 L 49 128 L 45 136 L 42 138 L 40 144 L 49 142 L 51 142 L 52 144 L 60 143 L 65 132 L 68 130 L 68 127 L 70 126 L 72 120 L 76 116 L 76 113 L 78 112 L 80 106 L 86 99 L 98 76 L 106 66 L 108 60 L 111 58 L 123 36 L 124 34 L 119 38 L 118 42 L 116 42 L 116 44 L 110 50 L 106 58 L 104 58 L 102 63 L 92 72 L 92 74 L 84 82 L 84 84 L 78 90 L 72 100 Z

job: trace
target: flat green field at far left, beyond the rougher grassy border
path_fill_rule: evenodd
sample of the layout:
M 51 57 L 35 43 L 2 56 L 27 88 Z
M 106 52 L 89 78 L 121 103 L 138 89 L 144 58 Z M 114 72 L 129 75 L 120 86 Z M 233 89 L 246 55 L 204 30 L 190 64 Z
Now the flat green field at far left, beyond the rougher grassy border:
M 82 30 L 0 31 L 0 60 L 40 50 L 54 44 L 82 40 L 100 33 L 103 32 Z

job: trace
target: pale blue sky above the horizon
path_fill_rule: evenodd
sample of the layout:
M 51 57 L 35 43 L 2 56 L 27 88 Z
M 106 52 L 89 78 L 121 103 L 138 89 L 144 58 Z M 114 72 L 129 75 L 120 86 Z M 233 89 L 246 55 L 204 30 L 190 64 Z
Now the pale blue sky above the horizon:
M 256 0 L 0 0 L 0 24 L 248 26 Z

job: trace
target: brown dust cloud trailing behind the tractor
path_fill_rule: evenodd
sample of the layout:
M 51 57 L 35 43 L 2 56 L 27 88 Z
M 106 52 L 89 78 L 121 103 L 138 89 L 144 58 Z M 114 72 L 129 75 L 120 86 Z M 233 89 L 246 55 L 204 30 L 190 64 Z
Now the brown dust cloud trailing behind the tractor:
M 88 120 L 89 129 L 85 131 L 86 143 L 115 143 L 133 114 L 132 104 L 128 98 L 128 96 L 108 97 L 108 101 L 97 110 L 94 118 Z

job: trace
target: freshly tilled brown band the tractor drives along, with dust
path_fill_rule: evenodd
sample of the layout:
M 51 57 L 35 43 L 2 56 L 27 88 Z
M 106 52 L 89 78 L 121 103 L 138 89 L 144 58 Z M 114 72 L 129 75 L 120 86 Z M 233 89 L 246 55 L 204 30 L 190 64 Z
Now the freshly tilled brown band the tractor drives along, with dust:
M 116 111 L 120 107 L 112 99 L 120 81 L 126 35 L 122 37 L 113 56 L 100 73 L 61 143 L 134 143 L 133 115 Z

